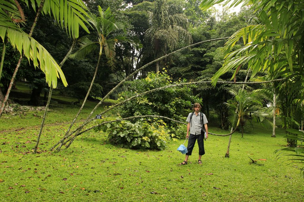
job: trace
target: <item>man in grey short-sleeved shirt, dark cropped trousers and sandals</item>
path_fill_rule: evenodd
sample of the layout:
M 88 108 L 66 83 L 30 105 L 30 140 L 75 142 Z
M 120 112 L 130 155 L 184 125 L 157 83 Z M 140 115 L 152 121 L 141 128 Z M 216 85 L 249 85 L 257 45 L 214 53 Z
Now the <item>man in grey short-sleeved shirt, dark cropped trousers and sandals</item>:
M 195 141 L 197 140 L 197 144 L 199 145 L 199 160 L 198 163 L 202 164 L 201 157 L 205 154 L 204 149 L 204 137 L 205 134 L 201 134 L 202 127 L 205 127 L 206 131 L 206 139 L 208 138 L 208 127 L 207 127 L 207 118 L 205 114 L 199 112 L 201 110 L 201 105 L 199 103 L 194 103 L 193 105 L 193 111 L 192 113 L 188 114 L 187 118 L 187 135 L 186 138 L 189 137 L 188 140 L 188 153 L 186 153 L 185 161 L 181 162 L 180 165 L 186 165 L 188 164 L 188 157 L 191 156 L 192 150 L 195 144 Z M 190 136 L 189 136 L 190 131 Z

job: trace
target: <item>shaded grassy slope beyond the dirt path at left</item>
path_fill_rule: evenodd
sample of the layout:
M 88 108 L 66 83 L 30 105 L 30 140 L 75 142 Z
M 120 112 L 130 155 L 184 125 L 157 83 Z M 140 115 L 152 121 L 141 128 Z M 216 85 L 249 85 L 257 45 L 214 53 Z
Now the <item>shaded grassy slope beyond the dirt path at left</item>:
M 28 84 L 26 82 L 18 81 L 16 84 L 16 89 L 13 89 L 10 94 L 10 98 L 20 101 L 23 103 L 22 105 L 27 105 L 25 103 L 29 101 L 30 93 L 31 91 Z M 43 100 L 43 96 L 40 98 Z M 80 104 L 72 105 L 72 101 L 77 100 L 75 98 L 61 95 L 58 90 L 54 89 L 49 106 L 51 111 L 47 113 L 45 124 L 71 122 L 82 104 L 82 101 L 80 101 Z M 78 120 L 85 119 L 91 113 L 92 109 L 97 103 L 98 101 L 86 101 Z M 105 100 L 105 105 L 111 105 L 111 103 L 117 103 L 117 101 L 111 99 Z M 104 104 L 100 105 L 93 116 L 99 114 L 101 111 L 104 111 L 104 109 Z M 43 113 L 44 111 L 27 111 L 25 113 L 16 111 L 15 116 L 3 114 L 2 118 L 0 119 L 0 131 L 9 130 L 10 128 L 40 126 Z

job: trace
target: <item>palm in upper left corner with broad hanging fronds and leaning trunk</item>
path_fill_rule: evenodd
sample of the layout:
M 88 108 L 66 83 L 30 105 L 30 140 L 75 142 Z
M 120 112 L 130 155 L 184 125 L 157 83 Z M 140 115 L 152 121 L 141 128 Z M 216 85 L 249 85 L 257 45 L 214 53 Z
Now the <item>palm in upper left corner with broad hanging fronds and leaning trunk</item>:
M 29 5 L 29 0 L 21 1 L 26 5 Z M 78 38 L 80 26 L 89 33 L 88 28 L 84 24 L 84 22 L 87 22 L 84 16 L 88 16 L 88 9 L 84 2 L 78 0 L 30 1 L 30 5 L 34 10 L 36 10 L 36 4 L 39 6 L 29 34 L 24 33 L 19 25 L 14 23 L 25 21 L 24 14 L 19 2 L 16 0 L 5 0 L 5 3 L 0 4 L 0 37 L 2 38 L 3 42 L 5 42 L 5 40 L 9 41 L 12 46 L 16 48 L 20 53 L 20 58 L 12 76 L 9 89 L 5 95 L 0 109 L 0 118 L 4 111 L 6 101 L 9 98 L 12 84 L 15 81 L 19 66 L 24 55 L 28 58 L 29 61 L 33 61 L 35 68 L 39 67 L 45 73 L 49 86 L 52 84 L 54 88 L 57 87 L 57 77 L 59 78 L 59 75 L 62 79 L 63 84 L 67 86 L 64 74 L 57 62 L 42 45 L 40 45 L 35 39 L 32 38 L 33 30 L 36 26 L 36 22 L 40 13 L 53 16 L 58 24 L 61 27 L 66 28 L 70 36 L 73 36 L 74 38 Z M 21 18 L 21 20 L 18 18 Z M 4 57 L 4 54 L 2 54 L 2 56 Z

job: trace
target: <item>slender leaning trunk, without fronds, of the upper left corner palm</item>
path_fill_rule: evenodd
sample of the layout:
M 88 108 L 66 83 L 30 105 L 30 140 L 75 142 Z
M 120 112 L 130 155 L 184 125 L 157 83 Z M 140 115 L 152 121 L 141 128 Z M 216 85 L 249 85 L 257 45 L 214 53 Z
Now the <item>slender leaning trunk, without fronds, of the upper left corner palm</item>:
M 40 5 L 39 5 L 38 11 L 37 11 L 37 13 L 36 13 L 36 17 L 35 17 L 35 19 L 34 19 L 32 28 L 31 28 L 31 30 L 29 31 L 29 37 L 32 37 L 32 35 L 33 35 L 33 31 L 34 31 L 34 28 L 35 28 L 35 26 L 36 26 L 37 19 L 38 19 L 39 15 L 40 15 L 40 13 L 41 13 L 41 11 L 42 11 L 44 2 L 45 2 L 45 0 L 41 0 L 41 2 L 40 2 Z M 14 84 L 14 82 L 15 82 L 16 75 L 17 75 L 18 69 L 19 69 L 19 67 L 20 67 L 20 64 L 21 64 L 23 55 L 24 55 L 24 53 L 22 53 L 22 54 L 20 55 L 19 61 L 18 61 L 17 65 L 16 65 L 14 74 L 13 74 L 13 76 L 12 76 L 11 82 L 9 83 L 9 89 L 8 89 L 7 92 L 6 92 L 5 98 L 4 98 L 4 100 L 3 100 L 3 103 L 2 103 L 2 106 L 1 106 L 1 109 L 0 109 L 0 118 L 1 118 L 2 113 L 3 113 L 3 111 L 4 111 L 6 101 L 9 99 L 9 94 L 10 94 L 10 92 L 11 92 L 11 90 L 12 90 L 12 86 L 13 86 L 13 84 Z

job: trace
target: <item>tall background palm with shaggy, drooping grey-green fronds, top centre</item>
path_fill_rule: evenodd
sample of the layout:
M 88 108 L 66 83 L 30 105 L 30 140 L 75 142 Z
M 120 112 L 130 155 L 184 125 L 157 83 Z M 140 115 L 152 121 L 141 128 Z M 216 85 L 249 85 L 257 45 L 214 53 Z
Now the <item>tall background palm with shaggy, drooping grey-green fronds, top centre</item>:
M 187 21 L 184 14 L 169 13 L 167 0 L 154 2 L 154 11 L 151 14 L 146 38 L 154 46 L 155 58 L 166 55 L 168 49 L 174 50 L 179 41 L 191 43 L 191 35 L 186 30 Z M 158 71 L 159 61 L 156 62 L 156 72 Z

